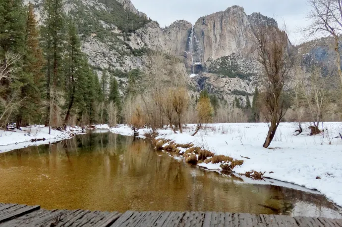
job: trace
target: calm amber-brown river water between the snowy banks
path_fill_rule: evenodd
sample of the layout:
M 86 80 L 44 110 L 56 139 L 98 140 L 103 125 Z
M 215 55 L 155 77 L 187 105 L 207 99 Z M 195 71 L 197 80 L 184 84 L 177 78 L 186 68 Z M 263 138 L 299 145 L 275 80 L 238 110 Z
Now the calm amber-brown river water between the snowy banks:
M 341 217 L 324 196 L 248 184 L 109 132 L 0 154 L 0 202 L 47 209 L 227 211 Z

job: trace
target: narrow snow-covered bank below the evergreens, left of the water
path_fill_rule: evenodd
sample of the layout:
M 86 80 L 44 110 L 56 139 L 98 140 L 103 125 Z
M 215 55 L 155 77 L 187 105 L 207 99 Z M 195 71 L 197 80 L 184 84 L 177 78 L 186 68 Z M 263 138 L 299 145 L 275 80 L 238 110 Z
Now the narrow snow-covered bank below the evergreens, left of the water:
M 0 153 L 14 149 L 20 149 L 28 146 L 37 146 L 68 139 L 73 136 L 70 131 L 60 132 L 51 130 L 49 135 L 49 127 L 32 126 L 31 128 L 21 128 L 20 130 L 0 131 Z M 33 142 L 32 142 L 33 141 Z

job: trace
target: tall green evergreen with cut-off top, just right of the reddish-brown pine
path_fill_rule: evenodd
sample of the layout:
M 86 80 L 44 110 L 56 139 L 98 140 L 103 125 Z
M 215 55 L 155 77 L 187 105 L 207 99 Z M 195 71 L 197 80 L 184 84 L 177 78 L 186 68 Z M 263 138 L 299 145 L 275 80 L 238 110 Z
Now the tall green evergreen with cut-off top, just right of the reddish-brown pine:
M 50 103 L 51 91 L 61 86 L 62 80 L 62 53 L 64 43 L 63 0 L 45 0 L 43 11 L 42 40 L 46 64 L 46 92 L 47 103 Z M 45 125 L 50 118 L 50 104 L 48 104 Z

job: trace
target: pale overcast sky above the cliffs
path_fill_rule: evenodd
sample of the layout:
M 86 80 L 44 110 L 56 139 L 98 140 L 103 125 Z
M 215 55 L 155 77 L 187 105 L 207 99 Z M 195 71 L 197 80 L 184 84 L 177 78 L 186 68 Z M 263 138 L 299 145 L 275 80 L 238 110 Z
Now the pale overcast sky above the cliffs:
M 131 0 L 134 6 L 147 14 L 161 26 L 184 19 L 194 24 L 198 18 L 223 11 L 232 5 L 242 6 L 246 14 L 260 12 L 273 17 L 278 24 L 286 23 L 292 43 L 303 41 L 298 26 L 308 23 L 305 18 L 309 9 L 307 0 Z

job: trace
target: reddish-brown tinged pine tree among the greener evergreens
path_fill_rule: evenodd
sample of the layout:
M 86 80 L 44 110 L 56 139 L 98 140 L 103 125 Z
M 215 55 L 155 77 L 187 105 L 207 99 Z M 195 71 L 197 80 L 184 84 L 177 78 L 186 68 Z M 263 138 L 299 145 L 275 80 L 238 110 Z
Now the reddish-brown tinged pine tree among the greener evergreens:
M 25 53 L 23 55 L 23 72 L 18 78 L 21 83 L 19 104 L 20 111 L 16 117 L 16 128 L 20 129 L 22 123 L 37 122 L 41 115 L 41 99 L 44 87 L 44 74 L 42 71 L 44 59 L 39 46 L 39 33 L 35 19 L 33 5 L 28 7 Z

